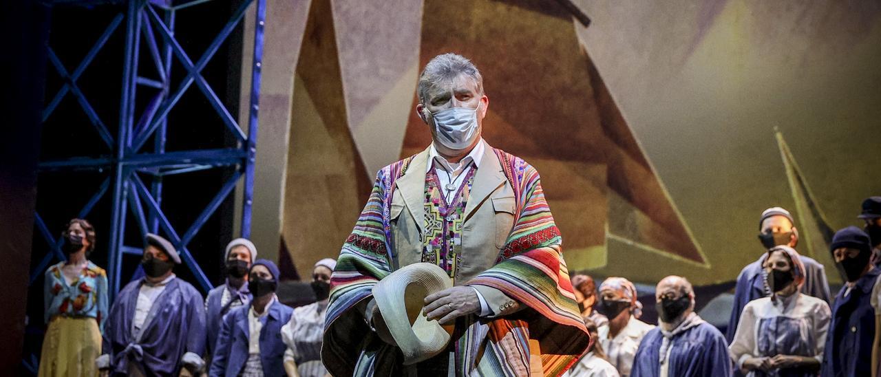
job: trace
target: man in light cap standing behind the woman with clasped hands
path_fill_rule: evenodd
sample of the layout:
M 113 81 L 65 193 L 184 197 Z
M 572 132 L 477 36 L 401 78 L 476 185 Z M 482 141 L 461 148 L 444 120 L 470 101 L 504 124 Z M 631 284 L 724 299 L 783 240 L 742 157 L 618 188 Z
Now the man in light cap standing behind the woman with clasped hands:
M 761 299 L 771 295 L 766 285 L 766 270 L 762 267 L 768 257 L 768 249 L 783 245 L 796 248 L 798 244 L 798 229 L 789 211 L 781 207 L 772 207 L 762 212 L 759 218 L 759 242 L 764 250 L 759 260 L 751 262 L 740 271 L 737 276 L 737 285 L 734 290 L 734 307 L 731 309 L 731 317 L 725 338 L 729 344 L 734 339 L 737 331 L 737 323 L 740 322 L 740 314 L 744 307 L 753 299 Z M 803 285 L 799 288 L 808 296 L 813 296 L 831 302 L 832 294 L 829 292 L 829 283 L 826 281 L 825 269 L 822 264 L 811 257 L 798 255 L 805 269 Z M 736 374 L 739 371 L 735 371 Z

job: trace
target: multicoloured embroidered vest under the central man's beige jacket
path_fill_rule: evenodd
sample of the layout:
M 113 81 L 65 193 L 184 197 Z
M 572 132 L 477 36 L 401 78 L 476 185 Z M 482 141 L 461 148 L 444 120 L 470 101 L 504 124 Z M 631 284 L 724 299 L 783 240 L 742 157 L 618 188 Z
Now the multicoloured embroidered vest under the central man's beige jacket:
M 452 203 L 447 203 L 444 188 L 434 168 L 426 174 L 425 232 L 422 233 L 422 262 L 434 263 L 455 277 L 455 270 L 462 259 L 462 225 L 465 206 L 476 168 L 471 168 L 458 188 Z

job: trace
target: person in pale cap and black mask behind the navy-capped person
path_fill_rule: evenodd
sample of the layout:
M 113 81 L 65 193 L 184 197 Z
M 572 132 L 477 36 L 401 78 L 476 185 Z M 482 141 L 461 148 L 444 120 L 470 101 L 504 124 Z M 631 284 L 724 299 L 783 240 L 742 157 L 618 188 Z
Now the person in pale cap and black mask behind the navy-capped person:
M 223 316 L 233 307 L 248 305 L 248 301 L 251 300 L 251 292 L 248 291 L 248 270 L 251 269 L 251 262 L 257 258 L 257 248 L 250 240 L 238 238 L 226 245 L 224 256 L 226 283 L 208 292 L 208 298 L 205 299 L 208 329 L 206 345 L 208 352 L 205 360 L 209 363 L 220 333 Z

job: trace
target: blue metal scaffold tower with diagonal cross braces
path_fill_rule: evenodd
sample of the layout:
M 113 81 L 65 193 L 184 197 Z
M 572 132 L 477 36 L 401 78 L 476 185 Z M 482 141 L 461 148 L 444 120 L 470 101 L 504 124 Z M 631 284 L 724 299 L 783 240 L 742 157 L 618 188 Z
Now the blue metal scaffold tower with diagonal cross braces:
M 226 22 L 211 41 L 211 45 L 196 60 L 181 47 L 175 38 L 175 12 L 184 8 L 207 3 L 210 0 L 123 0 L 123 1 L 83 1 L 55 0 L 48 1 L 53 7 L 58 5 L 102 6 L 104 4 L 122 5 L 118 14 L 112 18 L 104 32 L 93 43 L 75 70 L 68 71 L 56 55 L 52 46 L 48 48 L 48 59 L 58 75 L 63 78 L 61 89 L 51 100 L 47 99 L 42 119 L 43 122 L 53 115 L 59 103 L 72 96 L 82 108 L 100 136 L 101 143 L 111 151 L 109 155 L 100 157 L 70 156 L 63 159 L 41 161 L 40 174 L 60 170 L 92 170 L 107 172 L 97 192 L 85 201 L 78 218 L 85 218 L 93 211 L 95 204 L 104 196 L 110 195 L 109 246 L 107 249 L 107 278 L 110 297 L 120 290 L 122 256 L 126 254 L 141 255 L 143 236 L 145 233 L 159 233 L 170 240 L 181 254 L 182 262 L 196 277 L 196 285 L 205 292 L 211 289 L 211 282 L 194 259 L 188 244 L 193 240 L 206 221 L 218 209 L 227 196 L 233 192 L 236 184 L 243 180 L 243 205 L 241 211 L 241 236 L 248 237 L 251 227 L 251 205 L 254 192 L 254 161 L 257 137 L 257 111 L 260 97 L 260 72 L 263 57 L 263 28 L 266 19 L 266 0 L 244 0 L 232 11 L 232 17 Z M 248 107 L 246 133 L 241 123 L 236 120 L 230 110 L 218 98 L 202 71 L 217 53 L 218 48 L 241 23 L 245 12 L 251 4 L 255 4 L 255 37 L 253 61 L 251 65 L 251 87 Z M 121 26 L 123 26 L 122 28 Z M 122 28 L 122 30 L 120 30 Z M 104 48 L 114 33 L 123 32 L 124 51 L 122 57 L 122 93 L 119 100 L 119 117 L 117 124 L 108 124 L 100 118 L 90 99 L 78 86 L 78 78 L 83 74 L 95 55 Z M 149 54 L 148 67 L 138 67 L 139 56 Z M 173 59 L 185 70 L 182 80 L 172 82 Z M 153 65 L 155 70 L 150 68 Z M 107 78 L 116 80 L 118 78 Z M 177 81 L 177 80 L 175 80 Z M 213 110 L 220 116 L 229 133 L 235 138 L 233 148 L 199 149 L 187 151 L 166 151 L 166 134 L 168 114 L 178 105 L 184 92 L 192 90 L 192 86 L 204 94 Z M 145 96 L 149 99 L 144 110 L 136 114 L 136 99 Z M 115 126 L 117 132 L 112 134 L 108 126 Z M 214 194 L 211 201 L 199 213 L 191 224 L 172 224 L 162 209 L 162 178 L 172 174 L 187 174 L 205 169 L 230 168 L 233 174 L 226 179 L 222 187 Z M 148 177 L 142 179 L 141 177 Z M 126 221 L 133 218 L 137 224 L 141 238 L 126 240 Z M 63 239 L 60 233 L 49 230 L 40 213 L 35 216 L 35 232 L 47 242 L 50 250 L 46 255 L 39 255 L 34 245 L 33 258 L 41 258 L 31 272 L 31 285 L 38 280 L 43 271 L 53 261 L 63 260 Z M 124 282 L 123 282 L 124 284 Z

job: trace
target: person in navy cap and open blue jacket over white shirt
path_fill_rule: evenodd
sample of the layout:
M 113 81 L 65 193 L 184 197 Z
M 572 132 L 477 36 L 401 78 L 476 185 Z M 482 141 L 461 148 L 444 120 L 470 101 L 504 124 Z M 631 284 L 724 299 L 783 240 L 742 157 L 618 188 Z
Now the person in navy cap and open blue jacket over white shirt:
M 278 276 L 275 263 L 265 259 L 254 262 L 248 273 L 254 299 L 223 317 L 211 359 L 212 377 L 285 375 L 282 358 L 286 347 L 278 334 L 293 309 L 278 302 Z

